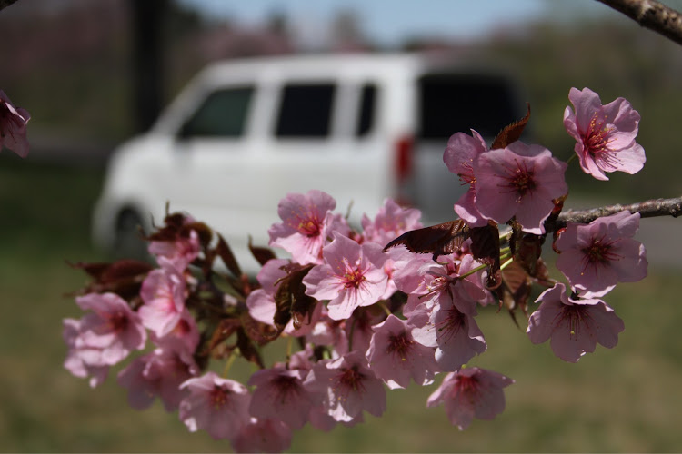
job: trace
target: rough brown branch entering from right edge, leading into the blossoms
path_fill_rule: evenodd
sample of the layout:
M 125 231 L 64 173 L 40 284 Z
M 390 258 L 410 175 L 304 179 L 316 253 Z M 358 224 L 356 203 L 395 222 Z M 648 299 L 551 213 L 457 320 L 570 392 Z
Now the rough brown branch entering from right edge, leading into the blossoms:
M 568 210 L 559 214 L 557 221 L 547 222 L 545 230 L 555 232 L 566 227 L 567 222 L 587 223 L 609 216 L 617 212 L 638 212 L 643 218 L 653 218 L 656 216 L 677 216 L 682 214 L 682 197 L 675 199 L 654 199 L 644 202 L 630 203 L 629 205 L 608 205 L 589 210 Z

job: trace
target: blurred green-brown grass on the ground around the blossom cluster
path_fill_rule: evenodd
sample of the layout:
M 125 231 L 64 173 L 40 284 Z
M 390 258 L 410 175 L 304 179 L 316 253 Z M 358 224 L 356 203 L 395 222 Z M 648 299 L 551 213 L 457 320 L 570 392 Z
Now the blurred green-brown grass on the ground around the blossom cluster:
M 226 451 L 229 443 L 191 434 L 156 403 L 125 403 L 115 383 L 102 387 L 62 368 L 61 319 L 79 317 L 64 294 L 85 282 L 65 260 L 99 260 L 89 217 L 102 172 L 40 166 L 0 155 L 0 450 Z M 682 434 L 682 339 L 677 276 L 654 273 L 607 295 L 626 331 L 613 350 L 597 347 L 577 364 L 532 345 L 504 312 L 478 323 L 488 351 L 473 365 L 516 380 L 506 410 L 459 431 L 442 408 L 426 409 L 434 386 L 388 393 L 383 418 L 352 429 L 308 426 L 294 436 L 300 452 L 679 451 Z M 236 370 L 244 375 L 248 370 Z

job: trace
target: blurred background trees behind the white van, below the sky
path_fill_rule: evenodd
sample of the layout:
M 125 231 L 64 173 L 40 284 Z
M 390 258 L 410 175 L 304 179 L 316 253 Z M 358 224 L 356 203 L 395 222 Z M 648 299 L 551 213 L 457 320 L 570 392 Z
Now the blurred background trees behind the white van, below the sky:
M 79 156 L 103 164 L 116 143 L 153 123 L 158 109 L 211 61 L 301 51 L 446 48 L 514 74 L 532 106 L 537 142 L 558 155 L 572 146 L 557 122 L 571 86 L 589 86 L 605 103 L 626 95 L 643 117 L 640 142 L 656 159 L 634 177 L 614 175 L 613 183 L 590 181 L 577 191 L 638 199 L 681 193 L 675 169 L 682 158 L 667 135 L 676 130 L 682 105 L 678 46 L 615 12 L 590 17 L 566 15 L 561 5 L 555 9 L 530 25 L 510 24 L 473 41 L 448 40 L 435 31 L 386 48 L 372 43 L 360 13 L 346 8 L 311 48 L 283 11 L 271 12 L 262 25 L 240 25 L 207 18 L 174 0 L 32 0 L 0 15 L 5 55 L 0 84 L 15 104 L 30 109 L 36 154 L 61 159 L 59 152 L 82 149 Z

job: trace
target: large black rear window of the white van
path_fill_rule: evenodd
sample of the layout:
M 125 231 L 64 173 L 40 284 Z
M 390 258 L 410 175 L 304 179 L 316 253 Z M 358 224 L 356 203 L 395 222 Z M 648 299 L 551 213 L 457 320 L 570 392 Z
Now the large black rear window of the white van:
M 517 120 L 512 86 L 501 77 L 429 74 L 420 79 L 419 88 L 419 136 L 423 139 L 447 140 L 471 129 L 492 138 Z

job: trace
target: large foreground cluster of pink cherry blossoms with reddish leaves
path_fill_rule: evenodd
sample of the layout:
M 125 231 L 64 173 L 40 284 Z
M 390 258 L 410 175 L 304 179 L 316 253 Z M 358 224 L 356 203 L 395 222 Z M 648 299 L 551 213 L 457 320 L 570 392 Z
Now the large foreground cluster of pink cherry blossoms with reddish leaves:
M 567 108 L 565 124 L 585 172 L 637 172 L 637 112 L 621 98 L 602 106 L 588 89 L 569 99 L 576 113 Z M 495 418 L 514 380 L 469 364 L 487 349 L 479 311 L 527 313 L 531 284 L 544 286 L 527 335 L 577 362 L 597 343 L 614 347 L 624 330 L 600 298 L 647 275 L 644 246 L 632 238 L 639 214 L 618 212 L 555 232 L 570 293 L 549 276 L 541 246 L 567 196 L 567 163 L 518 141 L 524 125 L 510 125 L 492 147 L 473 130 L 450 138 L 444 162 L 469 184 L 455 203 L 461 222 L 423 227 L 416 209 L 386 199 L 358 228 L 325 192 L 287 194 L 268 233 L 288 258 L 252 248 L 262 264 L 255 281 L 219 234 L 169 214 L 149 237 L 156 267 L 85 267 L 95 284 L 76 299 L 85 316 L 64 321 L 65 368 L 94 387 L 148 339 L 117 375 L 130 404 L 144 409 L 158 397 L 187 429 L 238 451 L 285 450 L 308 423 L 329 430 L 365 412 L 381 416 L 386 389 L 431 385 L 439 374 L 428 407 L 444 404 L 459 429 Z M 217 258 L 229 274 L 216 271 Z M 260 347 L 278 338 L 288 340 L 286 358 L 266 364 Z M 258 368 L 245 383 L 209 368 L 226 360 L 229 369 L 237 356 Z

